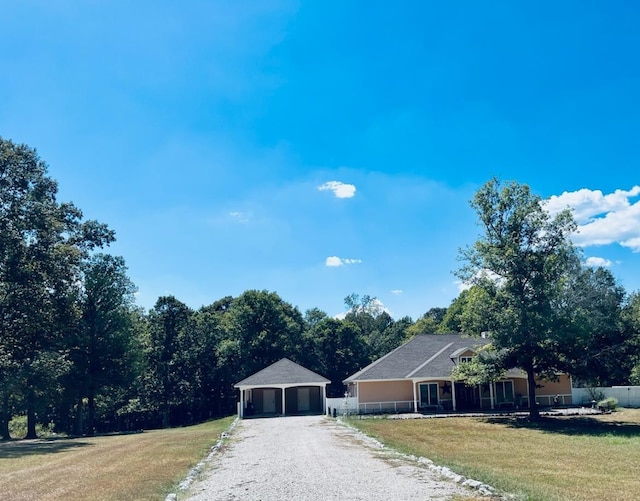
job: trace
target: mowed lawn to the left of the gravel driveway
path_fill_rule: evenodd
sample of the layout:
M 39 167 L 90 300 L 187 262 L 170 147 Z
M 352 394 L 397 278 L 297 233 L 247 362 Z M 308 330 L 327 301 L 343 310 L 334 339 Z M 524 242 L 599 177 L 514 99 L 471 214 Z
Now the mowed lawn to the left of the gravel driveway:
M 1 497 L 163 500 L 233 419 L 129 435 L 1 442 Z

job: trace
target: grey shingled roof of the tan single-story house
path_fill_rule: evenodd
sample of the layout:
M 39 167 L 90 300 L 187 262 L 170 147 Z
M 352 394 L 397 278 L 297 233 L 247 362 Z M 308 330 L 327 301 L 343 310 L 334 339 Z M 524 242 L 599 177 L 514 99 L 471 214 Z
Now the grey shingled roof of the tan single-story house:
M 475 351 L 478 346 L 488 343 L 488 339 L 462 334 L 415 336 L 344 382 L 449 377 L 454 366 L 452 358 L 457 358 L 467 350 Z

